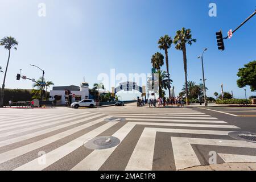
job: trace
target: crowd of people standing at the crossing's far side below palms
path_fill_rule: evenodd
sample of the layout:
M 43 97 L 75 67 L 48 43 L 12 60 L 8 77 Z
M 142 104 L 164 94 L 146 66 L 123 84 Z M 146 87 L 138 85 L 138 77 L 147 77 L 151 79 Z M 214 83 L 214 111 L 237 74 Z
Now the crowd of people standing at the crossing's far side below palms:
M 183 97 L 172 97 L 166 98 L 166 97 L 159 97 L 157 100 L 155 99 L 148 99 L 147 103 L 149 107 L 156 107 L 156 104 L 158 107 L 173 107 L 174 105 L 177 105 L 177 107 L 184 107 L 184 99 Z

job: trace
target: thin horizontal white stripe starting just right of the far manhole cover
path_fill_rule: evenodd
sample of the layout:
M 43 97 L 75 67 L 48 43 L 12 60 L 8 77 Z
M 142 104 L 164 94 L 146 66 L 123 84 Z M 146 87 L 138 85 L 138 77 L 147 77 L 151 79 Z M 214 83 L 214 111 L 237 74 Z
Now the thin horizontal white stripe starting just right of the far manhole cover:
M 154 121 L 154 122 L 189 122 L 189 123 L 226 123 L 225 121 L 209 121 L 209 120 L 187 120 L 187 119 L 143 119 L 143 118 L 127 118 L 126 121 Z

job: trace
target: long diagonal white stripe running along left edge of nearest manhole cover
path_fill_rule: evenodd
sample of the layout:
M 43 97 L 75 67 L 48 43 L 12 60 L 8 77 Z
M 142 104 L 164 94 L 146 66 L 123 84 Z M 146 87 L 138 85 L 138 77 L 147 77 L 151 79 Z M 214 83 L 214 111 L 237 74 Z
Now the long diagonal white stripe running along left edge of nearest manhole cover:
M 64 146 L 61 146 L 61 147 L 57 148 L 56 150 L 48 152 L 45 156 L 40 156 L 39 158 L 34 159 L 31 162 L 28 162 L 28 163 L 24 164 L 23 166 L 20 166 L 20 167 L 14 169 L 14 171 L 40 171 L 40 170 L 43 170 L 44 168 L 55 163 L 57 160 L 63 158 L 64 156 L 68 155 L 72 151 L 81 147 L 86 140 L 97 137 L 97 135 L 100 135 L 102 132 L 104 132 L 105 130 L 114 126 L 116 123 L 117 122 L 108 122 L 105 125 L 100 126 L 97 129 L 90 131 L 89 133 L 87 133 L 85 135 L 82 135 L 82 137 L 79 137 L 75 140 L 72 140 L 71 142 L 69 142 L 67 144 L 64 144 Z M 38 161 L 42 160 L 43 158 L 46 158 L 46 164 L 39 164 Z

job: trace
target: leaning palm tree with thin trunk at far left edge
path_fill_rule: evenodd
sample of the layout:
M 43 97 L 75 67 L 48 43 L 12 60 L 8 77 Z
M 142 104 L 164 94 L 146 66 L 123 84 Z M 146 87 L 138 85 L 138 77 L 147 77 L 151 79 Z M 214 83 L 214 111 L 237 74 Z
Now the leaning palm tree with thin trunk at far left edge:
M 18 46 L 18 44 L 19 43 L 16 41 L 16 39 L 11 36 L 7 36 L 2 40 L 0 40 L 0 46 L 5 46 L 5 49 L 9 51 L 9 56 L 8 56 L 7 65 L 5 69 L 5 76 L 3 77 L 3 85 L 1 89 L 0 107 L 3 107 L 3 98 L 5 96 L 5 79 L 6 79 L 6 73 L 7 73 L 9 60 L 11 56 L 11 48 L 14 48 L 16 50 L 17 48 L 15 46 Z

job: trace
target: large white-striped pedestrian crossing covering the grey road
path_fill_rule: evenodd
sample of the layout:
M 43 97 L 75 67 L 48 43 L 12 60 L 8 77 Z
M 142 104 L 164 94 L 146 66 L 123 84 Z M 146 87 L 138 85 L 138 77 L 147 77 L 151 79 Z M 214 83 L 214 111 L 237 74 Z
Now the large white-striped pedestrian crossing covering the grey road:
M 189 108 L 1 109 L 0 170 L 181 170 L 208 165 L 212 151 L 217 163 L 256 162 L 256 143 L 229 137 L 240 130 Z M 104 136 L 119 144 L 85 147 Z

